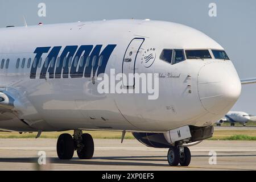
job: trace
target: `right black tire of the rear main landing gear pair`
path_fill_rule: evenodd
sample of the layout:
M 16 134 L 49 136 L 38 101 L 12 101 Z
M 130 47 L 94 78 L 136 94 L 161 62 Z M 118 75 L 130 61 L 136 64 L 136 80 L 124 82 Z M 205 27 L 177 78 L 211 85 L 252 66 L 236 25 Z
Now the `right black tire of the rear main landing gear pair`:
M 94 153 L 94 142 L 90 134 L 82 134 L 82 144 L 83 147 L 78 149 L 77 155 L 79 159 L 92 159 Z

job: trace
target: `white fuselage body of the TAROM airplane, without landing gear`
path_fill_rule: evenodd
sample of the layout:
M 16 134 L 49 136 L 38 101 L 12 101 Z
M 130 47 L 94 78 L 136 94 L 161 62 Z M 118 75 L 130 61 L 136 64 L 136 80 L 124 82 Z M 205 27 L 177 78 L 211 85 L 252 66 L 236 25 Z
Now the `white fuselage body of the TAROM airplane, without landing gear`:
M 172 65 L 159 59 L 165 48 L 223 49 L 200 31 L 176 23 L 109 20 L 2 28 L 0 40 L 0 61 L 10 60 L 8 68 L 4 64 L 0 69 L 0 91 L 14 98 L 13 112 L 2 113 L 2 130 L 165 132 L 185 125 L 210 126 L 232 108 L 241 92 L 240 79 L 230 60 L 186 59 Z M 69 52 L 67 46 L 71 46 Z M 105 70 L 96 66 L 86 71 L 92 66 L 85 65 L 79 76 L 73 73 L 71 67 L 81 46 L 88 48 L 87 56 L 93 50 L 102 52 L 107 48 L 104 56 L 109 53 L 109 59 L 103 58 L 102 62 L 106 61 Z M 39 56 L 37 48 L 44 48 L 42 65 L 31 76 L 32 63 Z M 85 57 L 86 50 L 82 51 Z M 49 54 L 56 58 L 72 55 L 72 51 L 70 67 L 61 68 L 58 73 L 56 61 L 51 71 L 42 71 Z M 148 52 L 155 59 L 152 65 L 143 61 Z M 125 59 L 131 59 L 134 65 Z M 97 77 L 103 73 L 110 76 L 110 69 L 115 69 L 115 74 L 159 75 L 158 99 L 148 100 L 147 94 L 99 94 Z

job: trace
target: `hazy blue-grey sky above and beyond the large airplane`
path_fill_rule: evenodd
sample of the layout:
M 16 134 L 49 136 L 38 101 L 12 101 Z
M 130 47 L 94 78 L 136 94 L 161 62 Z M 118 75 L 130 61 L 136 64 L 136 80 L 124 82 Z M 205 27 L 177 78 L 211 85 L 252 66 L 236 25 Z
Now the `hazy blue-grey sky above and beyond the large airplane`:
M 46 4 L 46 17 L 38 16 L 38 4 Z M 209 4 L 217 16 L 210 17 Z M 186 24 L 203 31 L 226 49 L 240 78 L 256 77 L 255 0 L 0 0 L 0 27 L 39 22 L 66 23 L 102 19 L 154 19 Z M 0 40 L 1 43 L 1 40 Z M 233 110 L 256 114 L 256 84 L 242 86 Z

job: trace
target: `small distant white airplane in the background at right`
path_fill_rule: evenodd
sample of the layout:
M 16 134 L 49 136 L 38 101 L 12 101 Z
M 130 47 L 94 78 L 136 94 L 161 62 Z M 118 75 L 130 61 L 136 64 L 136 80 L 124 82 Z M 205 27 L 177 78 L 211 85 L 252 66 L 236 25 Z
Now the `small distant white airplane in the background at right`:
M 224 122 L 230 122 L 230 126 L 235 126 L 235 123 L 241 123 L 246 126 L 246 123 L 251 121 L 251 116 L 242 111 L 229 111 L 224 118 L 220 119 L 216 125 L 221 126 Z

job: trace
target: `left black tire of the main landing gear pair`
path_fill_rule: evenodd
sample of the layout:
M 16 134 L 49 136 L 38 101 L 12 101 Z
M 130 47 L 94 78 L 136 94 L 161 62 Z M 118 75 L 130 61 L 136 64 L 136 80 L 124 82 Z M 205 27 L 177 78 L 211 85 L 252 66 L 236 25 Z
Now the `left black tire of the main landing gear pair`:
M 74 155 L 74 140 L 71 135 L 61 134 L 57 140 L 57 155 L 59 159 L 72 159 Z

